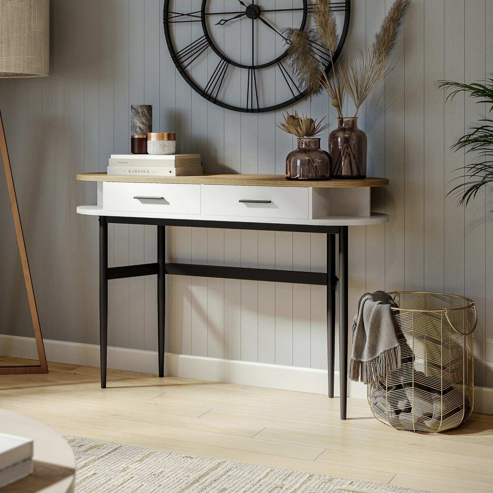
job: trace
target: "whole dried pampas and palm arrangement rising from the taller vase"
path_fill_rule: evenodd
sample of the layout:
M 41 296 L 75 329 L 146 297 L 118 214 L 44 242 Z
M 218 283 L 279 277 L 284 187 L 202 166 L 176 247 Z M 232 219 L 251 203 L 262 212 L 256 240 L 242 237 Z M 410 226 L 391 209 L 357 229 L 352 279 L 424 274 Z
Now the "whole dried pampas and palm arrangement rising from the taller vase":
M 298 29 L 285 29 L 283 34 L 289 39 L 288 56 L 294 73 L 307 88 L 310 96 L 325 90 L 336 107 L 340 117 L 346 94 L 359 108 L 377 85 L 385 79 L 394 66 L 390 64 L 390 54 L 395 46 L 397 32 L 404 11 L 411 0 L 395 0 L 384 19 L 380 31 L 375 35 L 371 47 L 360 50 L 345 64 L 334 65 L 333 57 L 337 49 L 337 22 L 331 0 L 318 0 L 313 5 L 316 27 L 308 32 Z M 333 76 L 325 72 L 326 55 L 333 67 Z

